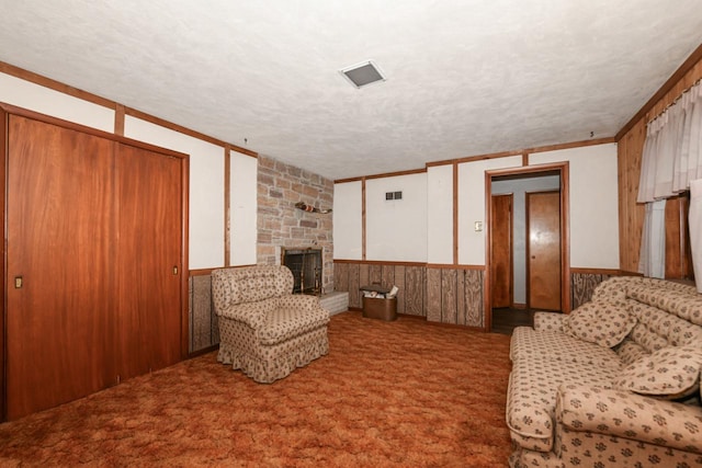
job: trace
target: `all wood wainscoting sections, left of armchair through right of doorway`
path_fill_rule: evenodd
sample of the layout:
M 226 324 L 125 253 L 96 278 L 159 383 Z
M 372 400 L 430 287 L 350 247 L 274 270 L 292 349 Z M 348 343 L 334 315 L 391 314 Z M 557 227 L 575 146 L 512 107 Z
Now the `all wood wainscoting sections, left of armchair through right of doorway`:
M 189 351 L 207 352 L 219 343 L 217 316 L 212 305 L 212 270 L 193 270 L 189 278 Z M 587 303 L 604 279 L 618 270 L 571 269 L 573 308 Z M 336 292 L 349 293 L 349 308 L 363 307 L 361 286 L 397 286 L 397 313 L 424 317 L 427 321 L 484 330 L 484 266 L 432 265 L 408 262 L 335 260 Z

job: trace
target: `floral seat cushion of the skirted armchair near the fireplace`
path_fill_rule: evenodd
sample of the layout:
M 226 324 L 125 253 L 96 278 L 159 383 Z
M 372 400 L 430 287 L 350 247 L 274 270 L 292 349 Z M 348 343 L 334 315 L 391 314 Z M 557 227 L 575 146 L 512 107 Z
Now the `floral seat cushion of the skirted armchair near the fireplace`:
M 329 312 L 320 307 L 314 309 L 281 307 L 268 313 L 265 326 L 258 333 L 261 344 L 272 345 L 325 327 L 328 322 Z

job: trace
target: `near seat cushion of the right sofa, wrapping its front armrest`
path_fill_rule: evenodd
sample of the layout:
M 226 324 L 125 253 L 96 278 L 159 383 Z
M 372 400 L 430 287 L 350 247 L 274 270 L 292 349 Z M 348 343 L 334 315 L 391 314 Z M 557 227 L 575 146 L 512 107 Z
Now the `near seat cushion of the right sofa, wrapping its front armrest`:
M 512 441 L 523 448 L 548 452 L 553 448 L 556 392 L 559 385 L 611 387 L 618 366 L 520 357 L 512 364 L 507 390 L 507 425 Z

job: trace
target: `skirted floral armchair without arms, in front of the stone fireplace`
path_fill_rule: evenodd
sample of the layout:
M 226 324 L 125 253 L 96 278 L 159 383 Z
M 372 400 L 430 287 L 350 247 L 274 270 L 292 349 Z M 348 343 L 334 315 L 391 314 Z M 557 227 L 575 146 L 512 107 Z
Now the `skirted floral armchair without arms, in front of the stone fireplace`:
M 270 384 L 329 352 L 329 312 L 315 296 L 293 295 L 286 266 L 212 272 L 219 326 L 217 359 Z

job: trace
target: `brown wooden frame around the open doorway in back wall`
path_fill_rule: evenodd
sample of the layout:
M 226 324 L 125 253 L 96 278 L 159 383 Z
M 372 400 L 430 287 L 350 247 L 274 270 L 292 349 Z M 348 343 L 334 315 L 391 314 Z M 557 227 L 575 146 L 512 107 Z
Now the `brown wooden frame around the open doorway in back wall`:
M 492 220 L 492 178 L 539 174 L 557 174 L 561 178 L 561 304 L 563 307 L 563 313 L 570 312 L 570 181 L 568 161 L 488 170 L 485 171 L 485 215 L 486 229 L 488 229 L 488 232 L 485 235 L 485 279 L 483 284 L 485 331 L 490 331 L 492 329 L 492 297 L 490 294 L 490 256 L 492 253 L 492 242 L 489 232 Z

